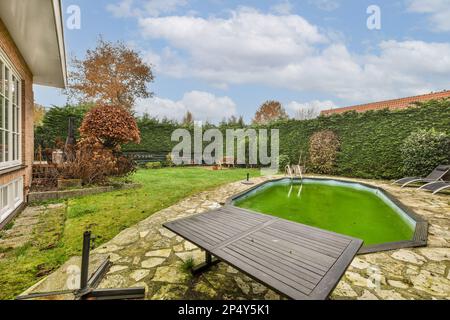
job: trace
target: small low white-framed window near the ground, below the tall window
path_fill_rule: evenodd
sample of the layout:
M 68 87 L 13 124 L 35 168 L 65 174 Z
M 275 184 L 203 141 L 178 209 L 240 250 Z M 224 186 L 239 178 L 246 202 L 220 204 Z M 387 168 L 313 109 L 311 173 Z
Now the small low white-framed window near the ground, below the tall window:
M 0 186 L 0 222 L 5 220 L 23 202 L 23 178 Z

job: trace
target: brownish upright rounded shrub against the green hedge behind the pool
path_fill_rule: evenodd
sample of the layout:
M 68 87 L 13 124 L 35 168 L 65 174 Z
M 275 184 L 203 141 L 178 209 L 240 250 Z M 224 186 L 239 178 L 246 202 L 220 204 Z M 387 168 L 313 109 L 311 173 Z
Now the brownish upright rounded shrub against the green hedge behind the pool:
M 335 171 L 340 142 L 331 130 L 314 133 L 309 140 L 309 160 L 316 173 L 330 174 Z

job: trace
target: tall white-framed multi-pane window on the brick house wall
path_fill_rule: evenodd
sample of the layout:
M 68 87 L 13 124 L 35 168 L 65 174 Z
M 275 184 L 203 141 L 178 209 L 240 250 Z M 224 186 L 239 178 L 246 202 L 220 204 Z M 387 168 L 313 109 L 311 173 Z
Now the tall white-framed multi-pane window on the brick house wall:
M 20 77 L 0 52 L 0 169 L 21 163 L 21 86 Z

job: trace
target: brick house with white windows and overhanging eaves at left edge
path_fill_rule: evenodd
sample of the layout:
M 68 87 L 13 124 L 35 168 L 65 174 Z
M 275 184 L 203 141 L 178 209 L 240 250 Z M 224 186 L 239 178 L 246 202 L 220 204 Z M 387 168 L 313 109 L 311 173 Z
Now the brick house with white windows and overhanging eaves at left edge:
M 26 202 L 34 158 L 33 84 L 64 88 L 60 0 L 0 0 L 0 229 Z

